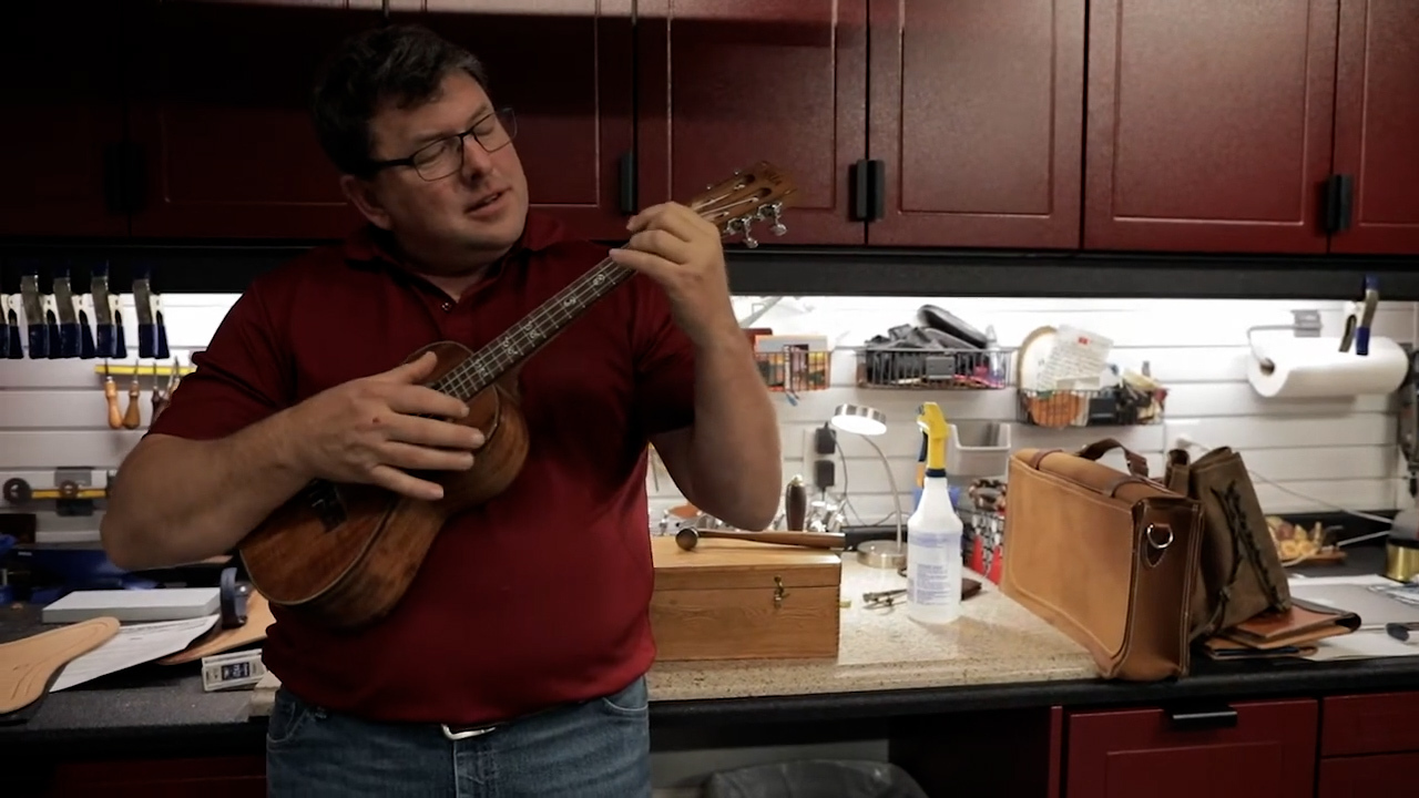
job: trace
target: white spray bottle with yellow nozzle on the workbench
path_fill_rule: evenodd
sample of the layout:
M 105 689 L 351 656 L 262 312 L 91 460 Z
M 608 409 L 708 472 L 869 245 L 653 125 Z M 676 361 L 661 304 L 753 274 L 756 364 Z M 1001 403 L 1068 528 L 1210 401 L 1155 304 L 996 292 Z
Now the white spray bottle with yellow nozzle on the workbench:
M 917 425 L 927 433 L 927 471 L 917 511 L 907 518 L 907 615 L 949 623 L 961 615 L 961 534 L 946 483 L 951 427 L 935 402 L 922 402 Z

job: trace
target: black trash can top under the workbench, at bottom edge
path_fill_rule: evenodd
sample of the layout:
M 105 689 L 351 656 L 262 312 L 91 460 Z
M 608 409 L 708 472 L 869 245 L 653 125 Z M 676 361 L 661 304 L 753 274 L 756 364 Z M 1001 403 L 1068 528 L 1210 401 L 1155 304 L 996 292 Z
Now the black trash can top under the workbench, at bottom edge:
M 907 771 L 867 760 L 797 760 L 710 774 L 704 798 L 928 798 Z

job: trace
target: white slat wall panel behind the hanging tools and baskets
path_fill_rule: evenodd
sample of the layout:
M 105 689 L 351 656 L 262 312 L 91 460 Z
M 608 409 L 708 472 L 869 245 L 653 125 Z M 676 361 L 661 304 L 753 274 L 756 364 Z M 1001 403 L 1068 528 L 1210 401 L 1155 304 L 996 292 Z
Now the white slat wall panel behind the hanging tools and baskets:
M 189 356 L 216 331 L 234 297 L 169 295 L 165 308 L 173 352 Z M 762 297 L 738 297 L 741 317 L 762 307 Z M 128 301 L 128 339 L 136 337 Z M 1341 301 L 1213 301 L 1213 300 L 1025 300 L 968 298 L 918 300 L 893 297 L 789 297 L 771 308 L 758 327 L 776 332 L 827 335 L 839 346 L 833 354 L 832 386 L 800 393 L 797 403 L 775 396 L 780 420 L 785 476 L 805 473 L 805 439 L 833 408 L 844 402 L 867 403 L 888 416 L 890 429 L 876 439 L 910 504 L 915 479 L 918 432 L 917 406 L 924 399 L 942 405 L 948 419 L 966 427 L 986 422 L 1013 422 L 1012 390 L 945 392 L 860 389 L 856 355 L 850 349 L 897 324 L 911 322 L 915 310 L 937 304 L 978 328 L 992 325 L 1002 346 L 1016 346 L 1042 325 L 1076 325 L 1114 341 L 1112 361 L 1122 368 L 1151 373 L 1168 385 L 1165 423 L 1137 427 L 1039 429 L 1012 425 L 1016 447 L 1071 449 L 1100 437 L 1117 437 L 1142 453 L 1154 473 L 1162 469 L 1164 452 L 1178 436 L 1205 446 L 1242 450 L 1256 474 L 1257 493 L 1269 513 L 1408 507 L 1403 463 L 1395 444 L 1393 396 L 1359 396 L 1323 400 L 1269 400 L 1246 382 L 1247 328 L 1291 322 L 1293 310 L 1315 310 L 1324 335 L 1340 329 Z M 1416 307 L 1384 302 L 1375 318 L 1375 335 L 1401 342 L 1416 339 Z M 1263 331 L 1257 337 L 1287 335 Z M 135 362 L 129 358 L 128 364 Z M 0 361 L 0 479 L 21 476 L 47 484 L 54 467 L 91 466 L 116 469 L 142 436 L 139 430 L 109 430 L 96 361 Z M 128 378 L 116 378 L 119 402 L 126 408 Z M 140 409 L 146 427 L 150 413 L 150 379 L 140 378 Z M 880 521 L 894 510 L 881 461 L 857 436 L 840 434 L 837 486 L 844 483 L 851 505 L 863 521 Z M 846 461 L 846 473 L 843 463 Z M 1122 461 L 1110 456 L 1118 467 Z M 683 503 L 664 470 L 647 480 L 653 521 Z M 1276 483 L 1276 484 L 1271 484 Z M 1297 496 L 1300 494 L 1300 496 Z M 854 517 L 853 521 L 858 518 Z M 60 528 L 51 515 L 41 528 Z M 62 528 L 72 528 L 65 524 Z

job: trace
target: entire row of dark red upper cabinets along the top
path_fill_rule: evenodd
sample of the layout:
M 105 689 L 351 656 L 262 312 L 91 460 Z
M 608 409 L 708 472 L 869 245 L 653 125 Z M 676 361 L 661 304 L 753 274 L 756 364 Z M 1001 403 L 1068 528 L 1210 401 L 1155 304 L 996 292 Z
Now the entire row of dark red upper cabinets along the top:
M 343 234 L 309 85 L 383 6 L 21 3 L 71 44 L 0 53 L 0 236 Z M 580 236 L 766 159 L 797 183 L 772 243 L 1419 253 L 1410 0 L 387 6 L 485 61 L 532 204 Z

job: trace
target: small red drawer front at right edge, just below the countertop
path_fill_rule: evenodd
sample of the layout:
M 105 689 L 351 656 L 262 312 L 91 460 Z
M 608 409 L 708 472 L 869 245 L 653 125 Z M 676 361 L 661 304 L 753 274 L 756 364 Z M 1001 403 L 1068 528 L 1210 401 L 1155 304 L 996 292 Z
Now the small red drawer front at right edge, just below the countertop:
M 1321 755 L 1419 751 L 1419 692 L 1335 696 L 1321 701 Z

